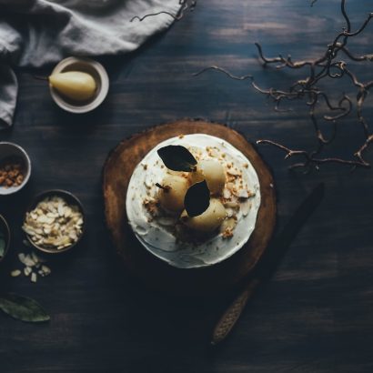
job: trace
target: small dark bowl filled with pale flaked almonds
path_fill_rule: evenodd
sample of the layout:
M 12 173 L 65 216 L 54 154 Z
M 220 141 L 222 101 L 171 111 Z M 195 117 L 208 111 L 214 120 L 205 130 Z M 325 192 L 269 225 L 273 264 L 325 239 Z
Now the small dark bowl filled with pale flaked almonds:
M 86 217 L 83 205 L 66 190 L 37 195 L 25 213 L 22 226 L 30 244 L 48 254 L 63 253 L 83 237 Z

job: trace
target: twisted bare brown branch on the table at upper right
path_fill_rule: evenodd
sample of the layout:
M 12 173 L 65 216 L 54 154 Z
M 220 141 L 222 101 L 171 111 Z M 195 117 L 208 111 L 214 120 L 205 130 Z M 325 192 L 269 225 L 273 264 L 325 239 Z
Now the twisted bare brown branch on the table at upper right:
M 317 0 L 313 0 L 311 5 L 314 5 Z M 236 80 L 246 80 L 247 78 L 251 79 L 252 86 L 257 92 L 262 95 L 267 96 L 271 99 L 275 106 L 276 111 L 288 111 L 284 109 L 279 109 L 279 106 L 284 102 L 291 102 L 294 100 L 303 100 L 308 106 L 308 116 L 311 120 L 315 136 L 317 137 L 318 144 L 315 149 L 312 151 L 307 150 L 294 150 L 290 149 L 287 146 L 278 144 L 275 141 L 260 139 L 257 141 L 257 144 L 267 144 L 275 146 L 278 149 L 287 153 L 286 158 L 290 157 L 301 157 L 303 160 L 297 162 L 290 166 L 290 168 L 303 167 L 306 170 L 310 168 L 319 168 L 319 165 L 326 163 L 334 164 L 343 164 L 352 166 L 353 169 L 357 167 L 370 167 L 368 161 L 364 158 L 364 154 L 367 151 L 368 147 L 373 143 L 373 133 L 371 132 L 368 121 L 363 115 L 363 105 L 370 88 L 373 86 L 373 80 L 369 82 L 360 82 L 358 76 L 356 76 L 349 68 L 348 64 L 342 60 L 338 59 L 339 53 L 343 53 L 348 57 L 349 60 L 355 62 L 373 62 L 373 54 L 368 55 L 353 55 L 348 50 L 348 41 L 350 38 L 353 38 L 357 35 L 360 35 L 364 32 L 370 20 L 373 18 L 373 13 L 368 14 L 367 18 L 362 22 L 356 31 L 351 30 L 351 22 L 346 11 L 346 0 L 341 0 L 340 2 L 341 14 L 345 19 L 345 27 L 343 30 L 338 33 L 334 38 L 332 43 L 327 45 L 326 51 L 323 55 L 319 56 L 314 60 L 300 60 L 293 61 L 291 55 L 284 57 L 283 55 L 277 55 L 276 57 L 267 57 L 263 53 L 262 46 L 256 43 L 257 53 L 260 60 L 263 63 L 263 66 L 273 65 L 277 69 L 289 68 L 292 70 L 295 69 L 304 69 L 307 68 L 308 74 L 304 79 L 299 79 L 295 81 L 287 91 L 277 90 L 276 88 L 263 88 L 257 85 L 254 81 L 254 78 L 250 75 L 246 76 L 235 76 L 229 71 L 218 67 L 211 66 L 207 67 L 195 76 L 206 72 L 209 69 L 222 72 L 229 76 L 230 78 Z M 325 146 L 328 146 L 336 136 L 338 128 L 338 120 L 351 114 L 353 110 L 353 101 L 352 99 L 343 94 L 336 105 L 333 105 L 327 92 L 324 92 L 318 88 L 318 82 L 321 80 L 338 79 L 343 76 L 348 76 L 352 86 L 357 89 L 356 94 L 356 116 L 358 119 L 358 124 L 363 129 L 364 143 L 356 150 L 351 159 L 343 159 L 339 157 L 322 157 L 320 156 L 323 152 Z M 331 112 L 337 112 L 335 115 L 324 115 L 321 118 L 318 118 L 316 112 L 318 108 L 324 103 L 324 105 Z M 324 121 L 328 126 L 332 125 L 332 135 L 326 136 L 321 129 L 320 120 Z

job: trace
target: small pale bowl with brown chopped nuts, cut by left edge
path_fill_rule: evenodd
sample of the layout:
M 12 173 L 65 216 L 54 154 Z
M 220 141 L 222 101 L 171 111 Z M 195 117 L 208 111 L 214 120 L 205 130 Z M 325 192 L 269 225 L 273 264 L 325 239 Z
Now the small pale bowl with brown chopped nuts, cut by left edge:
M 22 189 L 31 175 L 31 161 L 25 149 L 14 143 L 0 142 L 0 195 Z

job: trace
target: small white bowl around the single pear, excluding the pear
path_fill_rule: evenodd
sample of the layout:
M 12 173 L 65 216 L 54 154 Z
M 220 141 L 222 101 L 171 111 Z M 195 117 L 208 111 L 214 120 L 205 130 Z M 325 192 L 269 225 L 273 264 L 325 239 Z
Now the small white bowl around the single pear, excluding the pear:
M 105 100 L 109 90 L 109 77 L 104 66 L 89 58 L 68 57 L 55 66 L 52 75 L 66 73 L 67 71 L 81 71 L 93 76 L 97 86 L 95 96 L 87 101 L 78 102 L 61 95 L 53 86 L 49 85 L 55 104 L 70 113 L 77 114 L 87 113 L 96 109 Z

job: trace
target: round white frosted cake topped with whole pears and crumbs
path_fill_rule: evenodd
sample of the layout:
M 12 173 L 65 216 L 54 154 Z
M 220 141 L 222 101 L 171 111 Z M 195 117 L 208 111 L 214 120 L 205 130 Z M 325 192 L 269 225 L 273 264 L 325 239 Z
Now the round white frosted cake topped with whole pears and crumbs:
M 194 157 L 192 170 L 165 166 L 158 151 L 173 146 Z M 197 184 L 201 190 L 207 186 L 207 208 L 202 206 L 206 195 L 201 199 L 191 192 L 192 186 L 198 192 Z M 128 223 L 137 239 L 180 268 L 211 266 L 236 253 L 255 228 L 259 206 L 259 181 L 247 157 L 227 141 L 204 134 L 158 144 L 136 166 L 126 195 Z

